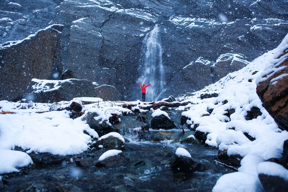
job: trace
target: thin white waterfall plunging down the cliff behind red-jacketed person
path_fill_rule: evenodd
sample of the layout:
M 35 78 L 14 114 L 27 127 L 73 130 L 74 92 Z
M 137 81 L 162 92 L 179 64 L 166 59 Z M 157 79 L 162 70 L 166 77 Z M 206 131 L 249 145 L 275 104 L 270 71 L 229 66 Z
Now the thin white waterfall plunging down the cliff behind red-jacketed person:
M 147 88 L 146 101 L 157 101 L 164 89 L 164 69 L 162 65 L 162 47 L 158 35 L 159 27 L 156 24 L 152 31 L 147 33 L 143 40 L 143 59 L 140 65 L 141 76 L 139 83 L 151 85 Z

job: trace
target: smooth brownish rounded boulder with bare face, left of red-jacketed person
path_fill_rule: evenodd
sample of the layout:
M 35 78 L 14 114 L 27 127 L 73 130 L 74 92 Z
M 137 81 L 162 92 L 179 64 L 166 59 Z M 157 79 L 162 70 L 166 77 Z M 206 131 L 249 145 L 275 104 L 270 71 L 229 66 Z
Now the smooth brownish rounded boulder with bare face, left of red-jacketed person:
M 97 96 L 104 101 L 123 101 L 124 98 L 119 91 L 111 85 L 101 85 L 95 88 Z

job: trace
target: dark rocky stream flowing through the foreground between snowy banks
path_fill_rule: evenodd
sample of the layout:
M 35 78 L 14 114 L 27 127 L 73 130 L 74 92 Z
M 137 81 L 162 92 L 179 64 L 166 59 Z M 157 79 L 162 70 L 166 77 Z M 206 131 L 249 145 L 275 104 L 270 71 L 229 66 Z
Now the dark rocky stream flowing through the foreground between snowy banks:
M 124 146 L 120 147 L 122 153 L 108 157 L 101 163 L 98 161 L 99 157 L 109 149 L 105 148 L 105 145 L 99 148 L 97 143 L 91 145 L 92 149 L 78 155 L 59 156 L 32 152 L 29 155 L 34 164 L 22 168 L 19 173 L 4 174 L 0 189 L 1 191 L 211 191 L 221 175 L 233 171 L 215 163 L 215 160 L 218 160 L 217 148 L 187 138 L 195 132 L 186 128 L 183 133 L 180 128 L 181 111 L 166 112 L 176 128 L 169 130 L 150 128 L 143 132 L 142 128 L 131 128 L 134 122 L 131 119 L 135 118 L 131 116 L 130 120 L 127 120 L 129 116 L 124 116 L 126 129 L 118 127 L 118 132 L 125 139 Z M 149 113 L 151 112 L 140 113 L 140 116 L 151 117 Z M 121 121 L 122 124 L 124 119 Z M 151 126 L 151 119 L 147 118 L 145 123 L 140 123 L 144 127 Z M 183 147 L 191 154 L 194 170 L 179 165 L 179 162 L 185 164 L 185 160 L 177 160 L 175 151 L 178 147 Z M 15 150 L 22 151 L 18 147 Z

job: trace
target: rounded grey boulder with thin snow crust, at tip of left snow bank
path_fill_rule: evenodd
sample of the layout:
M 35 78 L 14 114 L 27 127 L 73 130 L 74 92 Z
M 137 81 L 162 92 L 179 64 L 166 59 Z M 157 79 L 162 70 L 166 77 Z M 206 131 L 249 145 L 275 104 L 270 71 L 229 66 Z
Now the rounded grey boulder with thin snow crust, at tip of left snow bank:
M 124 138 L 116 132 L 111 132 L 100 137 L 91 147 L 102 145 L 106 149 L 122 149 L 124 148 Z

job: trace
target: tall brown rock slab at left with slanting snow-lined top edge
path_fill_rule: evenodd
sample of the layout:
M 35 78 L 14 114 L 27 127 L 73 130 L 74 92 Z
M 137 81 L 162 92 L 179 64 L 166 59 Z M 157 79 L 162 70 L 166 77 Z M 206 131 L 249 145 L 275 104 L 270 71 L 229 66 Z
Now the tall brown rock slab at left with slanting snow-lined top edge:
M 57 47 L 62 29 L 61 25 L 53 25 L 21 43 L 0 45 L 0 100 L 21 100 L 32 78 L 61 77 Z

